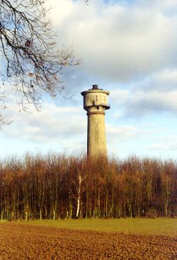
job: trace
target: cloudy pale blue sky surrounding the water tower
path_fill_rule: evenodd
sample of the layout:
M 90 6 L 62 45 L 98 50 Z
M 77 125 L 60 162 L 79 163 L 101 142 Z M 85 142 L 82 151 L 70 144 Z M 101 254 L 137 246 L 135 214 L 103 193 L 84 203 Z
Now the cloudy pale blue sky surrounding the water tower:
M 42 111 L 19 112 L 8 95 L 0 158 L 24 153 L 86 153 L 81 91 L 110 91 L 105 112 L 108 155 L 177 157 L 176 0 L 50 0 L 58 47 L 73 46 L 79 66 L 62 80 L 69 100 L 43 96 Z M 7 85 L 7 88 L 11 88 Z

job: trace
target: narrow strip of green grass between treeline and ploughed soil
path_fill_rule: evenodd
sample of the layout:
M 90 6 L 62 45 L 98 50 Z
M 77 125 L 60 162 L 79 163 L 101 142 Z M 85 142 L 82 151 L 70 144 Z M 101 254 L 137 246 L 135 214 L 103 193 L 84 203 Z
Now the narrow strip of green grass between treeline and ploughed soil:
M 122 232 L 136 235 L 176 236 L 175 218 L 120 218 L 120 219 L 83 219 L 83 220 L 29 220 L 19 223 L 42 225 L 46 227 L 70 228 L 74 230 L 95 230 L 104 232 Z

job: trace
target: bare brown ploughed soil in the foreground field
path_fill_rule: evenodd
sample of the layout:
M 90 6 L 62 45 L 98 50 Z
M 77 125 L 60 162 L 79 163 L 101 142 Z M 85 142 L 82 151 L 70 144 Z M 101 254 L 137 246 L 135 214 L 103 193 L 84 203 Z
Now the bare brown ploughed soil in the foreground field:
M 177 259 L 176 239 L 21 223 L 0 225 L 0 259 Z

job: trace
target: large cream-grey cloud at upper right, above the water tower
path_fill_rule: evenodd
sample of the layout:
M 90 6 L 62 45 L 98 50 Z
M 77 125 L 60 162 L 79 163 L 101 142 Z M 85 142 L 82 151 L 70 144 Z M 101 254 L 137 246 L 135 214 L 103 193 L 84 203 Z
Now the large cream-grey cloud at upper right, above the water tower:
M 62 43 L 73 42 L 76 57 L 84 61 L 79 69 L 90 77 L 126 82 L 176 64 L 176 21 L 158 6 L 69 3 L 72 11 L 57 25 L 59 42 L 61 35 Z M 56 3 L 54 17 L 61 5 Z

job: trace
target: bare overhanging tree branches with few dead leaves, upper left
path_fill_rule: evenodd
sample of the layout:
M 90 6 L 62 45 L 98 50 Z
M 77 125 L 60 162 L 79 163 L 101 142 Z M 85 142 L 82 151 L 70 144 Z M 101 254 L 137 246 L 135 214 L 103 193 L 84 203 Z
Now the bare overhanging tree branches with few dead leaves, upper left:
M 72 46 L 57 49 L 46 2 L 0 0 L 0 55 L 4 64 L 0 75 L 3 83 L 11 83 L 22 94 L 17 102 L 23 110 L 28 104 L 40 110 L 41 90 L 52 98 L 62 94 L 64 67 L 79 64 L 74 61 Z

